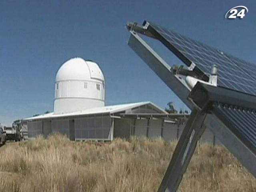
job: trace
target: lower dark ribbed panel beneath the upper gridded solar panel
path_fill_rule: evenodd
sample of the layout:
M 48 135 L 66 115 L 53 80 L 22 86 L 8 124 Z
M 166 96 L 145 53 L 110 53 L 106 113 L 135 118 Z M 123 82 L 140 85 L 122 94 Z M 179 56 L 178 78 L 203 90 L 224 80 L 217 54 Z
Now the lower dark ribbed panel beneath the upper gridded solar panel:
M 256 112 L 254 110 L 214 104 L 213 111 L 252 152 L 256 153 Z

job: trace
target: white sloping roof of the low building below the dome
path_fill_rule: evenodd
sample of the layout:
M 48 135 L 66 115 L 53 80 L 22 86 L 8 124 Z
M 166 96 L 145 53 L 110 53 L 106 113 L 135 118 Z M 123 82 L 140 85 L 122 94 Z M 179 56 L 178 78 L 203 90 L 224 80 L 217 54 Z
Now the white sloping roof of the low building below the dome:
M 48 114 L 42 114 L 35 117 L 25 118 L 24 120 L 38 120 L 38 119 L 46 119 L 46 118 L 58 118 L 58 117 L 67 117 L 67 116 L 83 116 L 83 115 L 93 115 L 93 114 L 112 114 L 121 112 L 124 110 L 128 110 L 130 108 L 135 108 L 143 105 L 151 105 L 152 107 L 159 110 L 159 112 L 167 114 L 166 111 L 161 109 L 160 107 L 156 106 L 152 102 L 138 102 L 138 103 L 129 103 L 129 104 L 119 104 L 119 105 L 111 105 L 111 106 L 104 106 L 104 107 L 97 107 L 88 110 L 64 113 L 64 114 L 54 114 L 53 112 Z

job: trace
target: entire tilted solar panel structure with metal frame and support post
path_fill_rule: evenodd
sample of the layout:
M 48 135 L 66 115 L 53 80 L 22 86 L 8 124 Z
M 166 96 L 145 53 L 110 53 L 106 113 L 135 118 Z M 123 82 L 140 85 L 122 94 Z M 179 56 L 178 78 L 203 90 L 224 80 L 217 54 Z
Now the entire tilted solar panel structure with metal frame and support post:
M 129 24 L 128 29 L 129 46 L 192 109 L 158 192 L 177 190 L 204 132 L 203 122 L 256 177 L 256 66 L 151 22 L 143 28 Z M 189 90 L 136 32 L 160 40 L 187 66 L 193 64 L 193 74 L 203 80 L 217 65 L 218 86 L 198 82 Z

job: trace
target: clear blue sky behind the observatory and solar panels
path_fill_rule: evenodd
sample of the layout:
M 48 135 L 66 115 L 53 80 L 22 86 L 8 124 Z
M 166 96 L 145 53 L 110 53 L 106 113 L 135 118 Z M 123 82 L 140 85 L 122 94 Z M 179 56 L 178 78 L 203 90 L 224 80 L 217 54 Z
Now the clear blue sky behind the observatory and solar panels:
M 241 20 L 224 19 L 232 7 L 249 9 Z M 54 78 L 74 56 L 96 61 L 106 79 L 106 104 L 150 100 L 164 108 L 172 91 L 127 45 L 125 24 L 150 20 L 256 63 L 256 2 L 0 1 L 0 122 L 53 109 Z M 153 42 L 169 64 L 181 64 Z

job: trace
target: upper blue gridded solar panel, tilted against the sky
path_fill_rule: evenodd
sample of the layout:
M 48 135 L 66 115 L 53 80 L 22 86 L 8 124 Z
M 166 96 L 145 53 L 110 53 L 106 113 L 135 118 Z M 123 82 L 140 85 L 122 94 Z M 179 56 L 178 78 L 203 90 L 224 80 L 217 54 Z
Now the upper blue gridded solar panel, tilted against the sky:
M 256 95 L 256 65 L 151 22 L 147 24 L 148 30 L 186 65 L 193 62 L 206 75 L 217 65 L 218 86 Z

